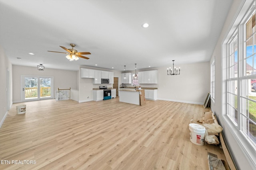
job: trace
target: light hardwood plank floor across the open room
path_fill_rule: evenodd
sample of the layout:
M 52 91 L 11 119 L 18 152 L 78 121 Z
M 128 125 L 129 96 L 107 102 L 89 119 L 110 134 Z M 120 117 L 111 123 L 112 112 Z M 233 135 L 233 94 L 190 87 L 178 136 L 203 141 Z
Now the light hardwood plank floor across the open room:
M 22 103 L 26 113 L 18 115 L 20 104 L 0 129 L 1 170 L 207 170 L 207 152 L 225 160 L 220 147 L 190 141 L 190 119 L 208 110 L 202 105 L 41 100 Z

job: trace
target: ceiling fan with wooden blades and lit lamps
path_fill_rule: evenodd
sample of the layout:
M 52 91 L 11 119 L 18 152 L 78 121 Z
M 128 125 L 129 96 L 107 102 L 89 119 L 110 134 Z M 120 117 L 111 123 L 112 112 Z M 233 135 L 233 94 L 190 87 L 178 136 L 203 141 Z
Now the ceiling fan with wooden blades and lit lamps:
M 66 47 L 62 47 L 60 46 L 62 49 L 68 51 L 68 53 L 64 53 L 64 52 L 57 52 L 57 51 L 49 51 L 49 52 L 54 52 L 54 53 L 64 53 L 64 54 L 68 54 L 66 56 L 66 58 L 69 61 L 73 61 L 73 60 L 78 60 L 78 57 L 81 57 L 83 59 L 89 59 L 88 57 L 84 57 L 82 55 L 86 55 L 86 54 L 91 54 L 90 52 L 77 52 L 77 50 L 73 49 L 76 45 L 75 44 L 70 44 L 72 49 L 67 49 Z

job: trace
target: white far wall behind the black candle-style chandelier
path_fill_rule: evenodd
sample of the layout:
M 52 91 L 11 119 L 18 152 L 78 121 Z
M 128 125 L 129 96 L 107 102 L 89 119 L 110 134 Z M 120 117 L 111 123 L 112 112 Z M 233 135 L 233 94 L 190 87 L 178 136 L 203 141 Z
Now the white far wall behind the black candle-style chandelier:
M 209 62 L 177 65 L 181 68 L 180 75 L 174 76 L 167 75 L 167 68 L 170 66 L 172 63 L 164 67 L 138 70 L 158 70 L 158 84 L 140 84 L 140 86 L 142 88 L 158 88 L 158 100 L 204 104 L 206 96 L 210 92 Z M 133 73 L 134 71 L 127 72 Z M 126 84 L 126 86 L 130 85 Z

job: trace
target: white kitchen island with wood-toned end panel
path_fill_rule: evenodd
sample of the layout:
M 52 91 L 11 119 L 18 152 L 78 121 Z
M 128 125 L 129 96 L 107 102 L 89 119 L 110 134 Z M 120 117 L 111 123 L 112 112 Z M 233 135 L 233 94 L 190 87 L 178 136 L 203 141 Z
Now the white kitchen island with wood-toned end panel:
M 144 90 L 135 89 L 122 89 L 119 90 L 119 102 L 125 102 L 136 105 L 143 105 L 145 103 L 145 92 Z

